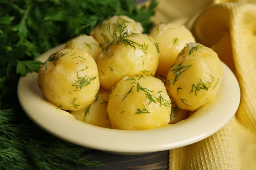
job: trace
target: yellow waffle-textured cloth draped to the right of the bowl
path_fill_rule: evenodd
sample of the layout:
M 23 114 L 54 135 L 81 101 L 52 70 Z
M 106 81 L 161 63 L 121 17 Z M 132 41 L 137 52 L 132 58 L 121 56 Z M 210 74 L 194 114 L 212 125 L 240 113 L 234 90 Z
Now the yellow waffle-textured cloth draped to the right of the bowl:
M 170 150 L 169 169 L 256 170 L 256 1 L 159 2 L 153 20 L 185 24 L 197 42 L 219 54 L 241 88 L 239 109 L 230 122 L 207 139 Z

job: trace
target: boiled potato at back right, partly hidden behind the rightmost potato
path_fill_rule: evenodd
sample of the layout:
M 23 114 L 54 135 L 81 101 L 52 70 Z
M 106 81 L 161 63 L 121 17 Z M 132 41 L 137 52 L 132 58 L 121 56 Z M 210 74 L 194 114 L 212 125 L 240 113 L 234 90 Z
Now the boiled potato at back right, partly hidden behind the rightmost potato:
M 164 77 L 167 77 L 170 66 L 186 43 L 195 42 L 193 35 L 185 26 L 173 23 L 160 23 L 148 36 L 159 43 L 160 58 L 157 74 Z

